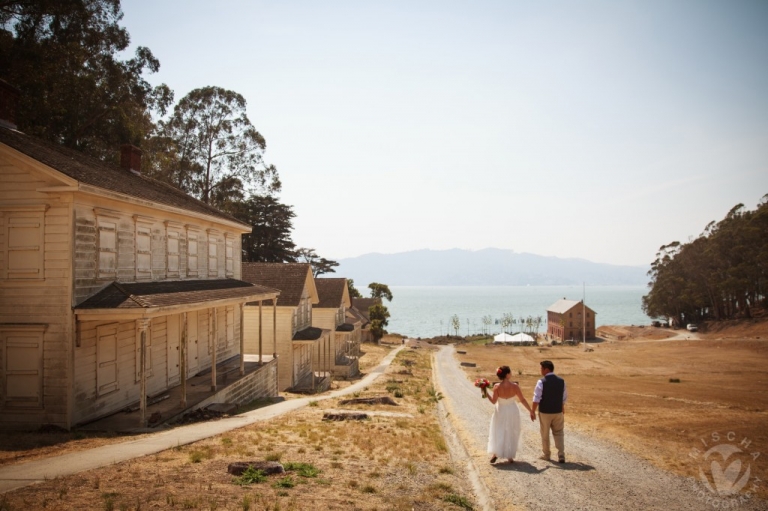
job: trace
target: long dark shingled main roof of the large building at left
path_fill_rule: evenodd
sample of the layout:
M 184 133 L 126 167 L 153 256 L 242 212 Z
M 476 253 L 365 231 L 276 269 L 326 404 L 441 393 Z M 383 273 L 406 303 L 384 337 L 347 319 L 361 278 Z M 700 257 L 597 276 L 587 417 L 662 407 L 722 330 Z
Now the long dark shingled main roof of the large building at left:
M 77 180 L 79 183 L 152 203 L 236 222 L 243 226 L 246 225 L 235 217 L 190 197 L 169 184 L 125 170 L 117 165 L 105 163 L 79 151 L 5 127 L 0 127 L 0 143 Z M 247 227 L 247 230 L 250 231 L 250 226 Z

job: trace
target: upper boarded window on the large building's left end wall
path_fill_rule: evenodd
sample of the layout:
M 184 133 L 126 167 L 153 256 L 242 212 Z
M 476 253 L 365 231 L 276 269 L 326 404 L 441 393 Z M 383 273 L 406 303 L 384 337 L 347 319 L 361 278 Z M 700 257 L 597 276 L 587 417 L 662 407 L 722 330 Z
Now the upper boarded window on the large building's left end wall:
M 45 210 L 48 206 L 6 207 L 2 268 L 7 279 L 42 279 Z

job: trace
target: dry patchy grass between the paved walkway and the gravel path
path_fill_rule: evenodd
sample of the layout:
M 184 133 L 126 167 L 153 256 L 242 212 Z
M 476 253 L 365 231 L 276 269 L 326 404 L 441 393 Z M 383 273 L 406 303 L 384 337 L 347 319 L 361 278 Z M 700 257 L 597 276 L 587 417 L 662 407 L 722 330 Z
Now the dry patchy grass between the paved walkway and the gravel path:
M 365 345 L 363 371 L 389 349 Z M 430 358 L 426 349 L 403 350 L 387 374 L 357 394 L 391 396 L 397 406 L 312 401 L 225 435 L 10 492 L 0 496 L 0 509 L 470 508 L 471 490 L 451 466 L 435 415 Z M 331 409 L 366 412 L 369 418 L 322 420 Z M 261 482 L 255 482 L 258 476 L 237 481 L 227 473 L 230 463 L 250 460 L 280 461 L 291 469 Z

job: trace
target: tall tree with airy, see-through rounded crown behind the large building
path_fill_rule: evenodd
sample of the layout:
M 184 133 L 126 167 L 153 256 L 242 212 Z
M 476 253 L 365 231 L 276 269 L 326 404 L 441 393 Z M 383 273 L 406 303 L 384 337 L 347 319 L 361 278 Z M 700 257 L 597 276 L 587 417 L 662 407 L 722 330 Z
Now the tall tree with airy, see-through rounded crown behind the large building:
M 277 169 L 263 159 L 266 141 L 245 110 L 245 98 L 237 92 L 213 86 L 191 91 L 161 123 L 161 146 L 171 146 L 174 158 L 154 173 L 216 206 L 233 190 L 278 192 Z

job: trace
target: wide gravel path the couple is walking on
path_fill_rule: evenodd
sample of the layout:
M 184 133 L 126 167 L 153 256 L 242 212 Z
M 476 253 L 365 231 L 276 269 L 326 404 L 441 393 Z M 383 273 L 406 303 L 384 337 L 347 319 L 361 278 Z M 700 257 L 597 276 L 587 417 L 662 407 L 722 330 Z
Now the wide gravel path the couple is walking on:
M 672 475 L 616 445 L 574 431 L 568 427 L 567 414 L 567 463 L 539 460 L 539 424 L 530 421 L 522 405 L 522 437 L 515 463 L 491 465 L 485 447 L 493 405 L 481 399 L 480 391 L 467 379 L 454 357 L 453 346 L 443 346 L 436 353 L 435 378 L 444 396 L 441 409 L 449 419 L 448 427 L 453 429 L 449 435 L 455 435 L 463 444 L 463 449 L 452 448 L 452 455 L 460 466 L 469 467 L 470 479 L 477 479 L 481 485 L 476 485 L 476 491 L 483 509 L 714 509 L 712 502 L 706 501 L 709 494 L 697 491 L 692 479 Z M 523 392 L 530 400 L 533 389 Z M 768 503 L 754 500 L 729 503 L 738 504 L 729 509 L 768 509 Z

